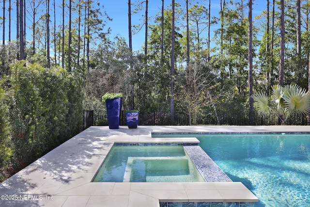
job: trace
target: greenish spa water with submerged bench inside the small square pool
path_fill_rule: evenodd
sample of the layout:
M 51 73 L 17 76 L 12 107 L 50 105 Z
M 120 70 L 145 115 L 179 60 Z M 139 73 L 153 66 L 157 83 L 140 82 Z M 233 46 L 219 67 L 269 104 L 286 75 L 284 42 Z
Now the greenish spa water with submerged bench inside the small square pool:
M 204 182 L 183 146 L 113 146 L 93 182 Z

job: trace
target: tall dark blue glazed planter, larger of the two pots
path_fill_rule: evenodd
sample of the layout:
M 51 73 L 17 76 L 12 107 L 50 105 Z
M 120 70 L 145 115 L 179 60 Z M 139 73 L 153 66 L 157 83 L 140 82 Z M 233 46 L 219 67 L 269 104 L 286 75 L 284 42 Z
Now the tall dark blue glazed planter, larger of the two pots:
M 106 100 L 109 128 L 119 128 L 120 114 L 122 108 L 122 98 L 113 98 Z

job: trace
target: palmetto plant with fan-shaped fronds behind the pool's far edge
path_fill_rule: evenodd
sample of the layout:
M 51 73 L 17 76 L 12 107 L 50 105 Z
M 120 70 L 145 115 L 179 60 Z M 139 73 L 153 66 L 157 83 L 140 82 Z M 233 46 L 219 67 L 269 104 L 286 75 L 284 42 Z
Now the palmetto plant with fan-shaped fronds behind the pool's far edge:
M 310 111 L 310 93 L 297 85 L 274 85 L 270 97 L 264 92 L 254 94 L 254 105 L 263 118 L 276 114 L 285 125 L 291 114 L 305 115 Z

